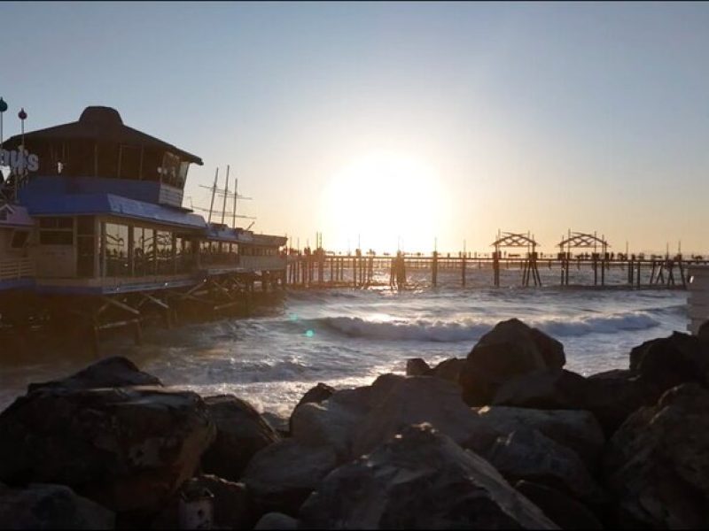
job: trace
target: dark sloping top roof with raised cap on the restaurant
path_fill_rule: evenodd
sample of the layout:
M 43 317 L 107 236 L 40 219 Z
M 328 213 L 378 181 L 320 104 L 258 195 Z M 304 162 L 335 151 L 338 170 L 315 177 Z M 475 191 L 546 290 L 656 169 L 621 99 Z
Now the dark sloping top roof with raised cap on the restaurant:
M 181 150 L 168 142 L 163 142 L 154 136 L 146 135 L 133 127 L 124 125 L 121 114 L 111 107 L 87 107 L 82 112 L 82 116 L 75 122 L 25 133 L 25 143 L 66 140 L 94 140 L 156 148 L 172 151 L 189 162 L 198 165 L 203 164 L 202 159 L 196 155 Z M 22 136 L 15 135 L 4 142 L 4 146 L 14 149 L 21 142 Z M 29 150 L 31 151 L 31 144 L 29 144 Z

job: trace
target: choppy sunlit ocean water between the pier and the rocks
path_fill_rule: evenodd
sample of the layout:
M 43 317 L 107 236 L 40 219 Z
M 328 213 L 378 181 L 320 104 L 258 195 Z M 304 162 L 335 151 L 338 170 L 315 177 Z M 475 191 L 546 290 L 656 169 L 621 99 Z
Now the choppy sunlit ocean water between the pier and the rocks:
M 635 345 L 686 331 L 685 291 L 625 289 L 620 270 L 607 272 L 615 289 L 562 289 L 558 271 L 544 268 L 544 287 L 528 289 L 519 287 L 518 270 L 504 270 L 508 287 L 499 289 L 490 287 L 489 270 L 468 273 L 464 289 L 459 272 L 441 271 L 433 288 L 430 273 L 410 271 L 411 287 L 402 291 L 289 291 L 258 317 L 152 327 L 142 345 L 127 334 L 105 342 L 102 355 L 127 356 L 166 385 L 204 396 L 233 393 L 262 412 L 288 415 L 319 381 L 355 387 L 381 373 L 404 373 L 408 358 L 431 364 L 464 358 L 503 319 L 516 317 L 563 342 L 566 368 L 584 375 L 627 368 Z M 592 272 L 572 273 L 572 282 L 593 282 Z M 386 272 L 379 275 L 386 278 Z M 0 409 L 27 383 L 66 376 L 92 361 L 51 344 L 7 354 L 0 361 Z

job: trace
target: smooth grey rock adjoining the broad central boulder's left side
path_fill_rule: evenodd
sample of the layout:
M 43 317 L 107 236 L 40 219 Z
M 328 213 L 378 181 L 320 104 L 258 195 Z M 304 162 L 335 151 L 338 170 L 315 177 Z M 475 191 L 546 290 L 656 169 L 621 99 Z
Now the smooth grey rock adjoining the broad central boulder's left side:
M 292 437 L 309 445 L 329 445 L 339 462 L 349 460 L 362 419 L 403 380 L 402 376 L 384 374 L 370 386 L 341 389 L 322 404 L 301 405 L 291 417 Z

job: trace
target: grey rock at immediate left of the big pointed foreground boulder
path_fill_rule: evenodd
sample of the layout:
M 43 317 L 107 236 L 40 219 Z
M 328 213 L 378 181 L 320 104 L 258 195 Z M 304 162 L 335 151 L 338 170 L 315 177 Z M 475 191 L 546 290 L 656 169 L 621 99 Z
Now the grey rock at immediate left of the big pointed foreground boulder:
M 243 481 L 259 512 L 284 512 L 294 516 L 335 466 L 337 455 L 331 446 L 308 446 L 286 439 L 253 456 Z

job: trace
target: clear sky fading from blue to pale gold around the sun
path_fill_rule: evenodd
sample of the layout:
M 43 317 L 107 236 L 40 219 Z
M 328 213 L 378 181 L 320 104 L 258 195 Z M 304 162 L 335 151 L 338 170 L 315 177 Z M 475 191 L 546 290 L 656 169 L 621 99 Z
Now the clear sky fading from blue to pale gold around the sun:
M 5 137 L 19 107 L 113 107 L 204 159 L 187 206 L 230 165 L 293 246 L 709 251 L 709 4 L 4 2 L 0 26 Z

